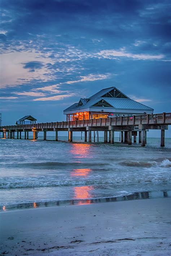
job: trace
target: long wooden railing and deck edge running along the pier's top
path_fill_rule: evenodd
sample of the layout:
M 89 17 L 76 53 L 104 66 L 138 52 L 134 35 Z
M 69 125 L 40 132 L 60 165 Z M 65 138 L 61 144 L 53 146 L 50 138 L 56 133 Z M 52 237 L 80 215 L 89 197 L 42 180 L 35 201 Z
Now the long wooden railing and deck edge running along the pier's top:
M 171 113 L 162 114 L 147 114 L 139 116 L 120 116 L 115 118 L 100 118 L 89 120 L 75 120 L 62 121 L 51 123 L 37 123 L 37 124 L 19 124 L 1 126 L 0 131 L 3 130 L 32 130 L 36 129 L 62 129 L 62 128 L 76 128 L 76 127 L 106 127 L 109 125 L 138 125 L 138 124 L 171 124 Z

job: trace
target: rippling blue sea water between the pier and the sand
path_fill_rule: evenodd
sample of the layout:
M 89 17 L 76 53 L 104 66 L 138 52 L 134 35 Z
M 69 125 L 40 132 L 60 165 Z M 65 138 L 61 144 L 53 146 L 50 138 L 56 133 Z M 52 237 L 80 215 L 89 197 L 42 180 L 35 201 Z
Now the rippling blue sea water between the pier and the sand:
M 41 138 L 0 139 L 1 210 L 171 196 L 169 138 L 165 148 L 158 138 L 145 147 Z

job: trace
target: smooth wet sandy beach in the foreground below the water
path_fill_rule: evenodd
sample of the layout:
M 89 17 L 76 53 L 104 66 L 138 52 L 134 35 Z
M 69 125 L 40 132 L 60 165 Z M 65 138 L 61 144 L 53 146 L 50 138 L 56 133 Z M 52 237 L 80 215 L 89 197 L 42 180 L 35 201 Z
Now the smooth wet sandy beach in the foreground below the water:
M 0 254 L 171 255 L 171 199 L 0 213 Z

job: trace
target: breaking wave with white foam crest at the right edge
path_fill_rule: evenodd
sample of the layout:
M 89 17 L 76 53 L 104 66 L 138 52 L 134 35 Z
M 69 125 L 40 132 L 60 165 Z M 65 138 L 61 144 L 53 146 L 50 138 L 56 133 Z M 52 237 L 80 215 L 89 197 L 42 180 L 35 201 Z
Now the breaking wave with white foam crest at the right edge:
M 120 163 L 120 165 L 123 166 L 132 166 L 132 167 L 152 167 L 152 166 L 158 166 L 158 167 L 171 167 L 171 161 L 168 159 L 164 159 L 162 162 L 157 161 L 123 161 Z

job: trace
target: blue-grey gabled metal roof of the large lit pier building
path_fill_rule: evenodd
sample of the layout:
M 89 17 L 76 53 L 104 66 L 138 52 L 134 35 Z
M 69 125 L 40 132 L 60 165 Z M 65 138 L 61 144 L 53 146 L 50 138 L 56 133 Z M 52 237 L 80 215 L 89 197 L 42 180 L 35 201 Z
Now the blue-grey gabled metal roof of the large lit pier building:
M 74 112 L 83 111 L 103 111 L 109 112 L 135 112 L 135 113 L 153 113 L 153 108 L 145 106 L 127 95 L 122 93 L 116 87 L 105 88 L 93 94 L 86 99 L 80 99 L 78 103 L 74 103 L 63 111 L 63 114 L 72 114 Z

